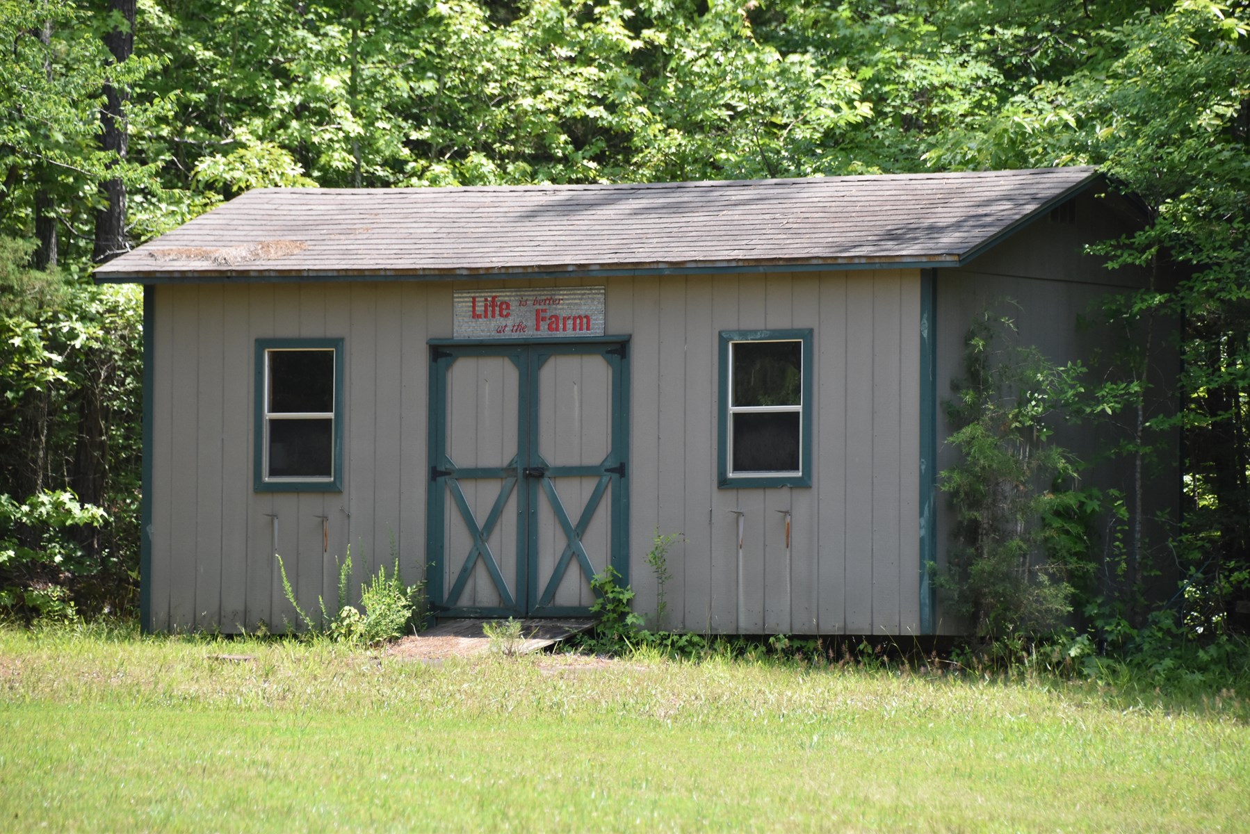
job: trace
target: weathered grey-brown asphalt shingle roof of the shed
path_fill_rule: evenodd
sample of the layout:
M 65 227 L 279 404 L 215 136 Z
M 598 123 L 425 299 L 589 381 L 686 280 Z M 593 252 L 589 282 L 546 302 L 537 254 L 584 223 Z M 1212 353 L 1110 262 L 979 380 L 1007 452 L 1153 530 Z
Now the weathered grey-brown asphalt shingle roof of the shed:
M 102 281 L 956 265 L 1092 168 L 649 185 L 258 189 Z

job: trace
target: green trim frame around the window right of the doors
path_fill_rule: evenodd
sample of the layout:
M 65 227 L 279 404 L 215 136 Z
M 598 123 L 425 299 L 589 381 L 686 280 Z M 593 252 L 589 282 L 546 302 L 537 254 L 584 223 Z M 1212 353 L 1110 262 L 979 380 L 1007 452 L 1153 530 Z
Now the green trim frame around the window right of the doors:
M 801 341 L 802 369 L 799 418 L 799 470 L 796 473 L 734 475 L 730 473 L 730 346 L 741 341 Z M 721 330 L 718 361 L 716 485 L 721 489 L 811 486 L 812 378 L 815 376 L 812 330 Z

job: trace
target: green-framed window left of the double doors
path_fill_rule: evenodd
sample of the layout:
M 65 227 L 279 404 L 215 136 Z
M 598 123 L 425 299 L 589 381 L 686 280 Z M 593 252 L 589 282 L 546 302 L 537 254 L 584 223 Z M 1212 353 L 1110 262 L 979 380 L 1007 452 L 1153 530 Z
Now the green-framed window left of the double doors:
M 256 490 L 342 489 L 342 339 L 256 340 Z

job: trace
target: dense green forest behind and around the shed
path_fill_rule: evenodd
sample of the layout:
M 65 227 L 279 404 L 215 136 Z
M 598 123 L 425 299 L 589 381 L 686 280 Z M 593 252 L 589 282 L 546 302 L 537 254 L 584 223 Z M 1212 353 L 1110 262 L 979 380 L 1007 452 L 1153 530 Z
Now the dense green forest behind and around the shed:
M 1058 555 L 1026 544 L 1049 554 L 1034 581 L 1059 586 L 1064 615 L 1046 628 L 1061 623 L 1072 651 L 1226 663 L 1250 604 L 1248 9 L 0 0 L 0 614 L 134 611 L 141 301 L 91 270 L 246 189 L 1091 164 L 1144 220 L 1098 251 L 1180 280 L 1091 310 L 1125 351 L 1048 378 L 1062 408 L 1042 411 L 1120 426 L 1110 454 L 1132 460 L 1136 486 L 992 524 L 1040 513 L 1024 526 L 1066 530 Z M 1150 391 L 1141 366 L 1162 320 L 1182 323 L 1175 391 Z M 1014 405 L 1021 385 L 982 385 L 969 423 L 1006 414 L 1038 436 L 1040 413 Z M 1160 394 L 1179 413 L 1150 411 Z M 1182 513 L 1151 528 L 1140 491 L 1178 429 Z M 1146 594 L 1152 576 L 1179 585 Z

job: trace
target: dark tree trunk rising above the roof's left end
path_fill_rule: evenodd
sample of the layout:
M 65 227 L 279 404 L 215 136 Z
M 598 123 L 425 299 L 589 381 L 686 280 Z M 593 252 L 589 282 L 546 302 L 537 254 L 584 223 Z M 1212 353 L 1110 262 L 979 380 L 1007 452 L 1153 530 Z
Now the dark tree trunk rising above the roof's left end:
M 124 29 L 114 29 L 105 34 L 104 43 L 112 53 L 115 64 L 130 58 L 135 50 L 135 0 L 109 0 L 109 10 L 118 11 L 125 19 Z M 104 109 L 100 110 L 100 145 L 106 151 L 116 154 L 110 168 L 124 163 L 129 140 L 126 128 L 126 103 L 130 91 L 120 84 L 104 85 Z M 92 260 L 102 264 L 125 253 L 126 244 L 126 186 L 120 178 L 111 178 L 101 184 L 105 205 L 95 214 L 95 251 Z

